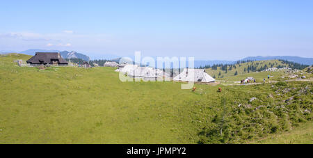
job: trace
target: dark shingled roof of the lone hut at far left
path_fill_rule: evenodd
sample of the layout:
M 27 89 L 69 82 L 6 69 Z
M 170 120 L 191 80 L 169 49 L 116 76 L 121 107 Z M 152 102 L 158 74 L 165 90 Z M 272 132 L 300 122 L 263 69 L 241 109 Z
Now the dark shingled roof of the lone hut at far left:
M 52 64 L 51 60 L 58 60 L 59 64 L 68 64 L 67 61 L 62 58 L 61 54 L 59 53 L 36 53 L 35 56 L 31 57 L 27 63 L 32 63 L 32 64 Z M 42 61 L 42 62 L 40 62 Z

